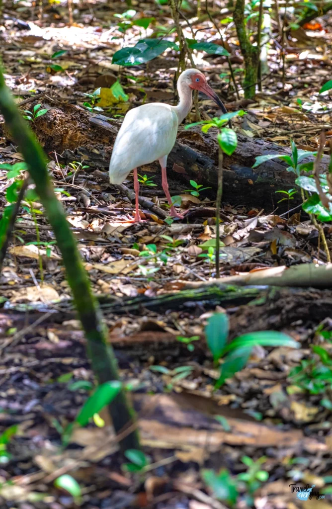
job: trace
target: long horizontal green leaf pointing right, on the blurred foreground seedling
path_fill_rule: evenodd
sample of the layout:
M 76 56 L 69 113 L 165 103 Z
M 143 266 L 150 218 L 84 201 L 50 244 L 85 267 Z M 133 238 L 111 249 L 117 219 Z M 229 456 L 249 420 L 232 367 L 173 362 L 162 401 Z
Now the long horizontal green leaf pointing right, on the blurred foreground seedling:
M 238 348 L 252 348 L 255 345 L 262 347 L 292 347 L 299 348 L 300 344 L 292 337 L 279 332 L 278 330 L 259 330 L 248 332 L 237 337 L 232 343 L 225 347 L 223 354 L 237 350 Z

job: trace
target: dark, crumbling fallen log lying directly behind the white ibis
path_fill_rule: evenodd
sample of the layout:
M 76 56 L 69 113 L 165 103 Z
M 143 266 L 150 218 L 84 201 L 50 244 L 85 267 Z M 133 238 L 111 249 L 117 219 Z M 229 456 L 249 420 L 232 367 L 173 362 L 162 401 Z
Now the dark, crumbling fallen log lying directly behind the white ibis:
M 47 154 L 61 154 L 61 162 L 84 160 L 91 169 L 108 167 L 120 122 L 102 115 L 90 114 L 73 104 L 44 103 L 48 113 L 35 123 L 35 131 Z M 128 147 L 130 150 L 130 147 Z M 236 204 L 260 206 L 272 210 L 278 202 L 275 191 L 294 187 L 294 174 L 287 172 L 287 163 L 280 159 L 270 160 L 252 168 L 255 157 L 263 154 L 283 153 L 290 150 L 260 138 L 238 135 L 238 147 L 232 156 L 225 156 L 224 201 Z M 328 167 L 329 158 L 323 156 L 321 168 Z M 207 134 L 200 127 L 179 129 L 177 143 L 168 158 L 170 187 L 175 182 L 184 183 L 194 179 L 211 186 L 213 195 L 217 183 L 218 146 L 216 130 Z M 160 174 L 158 163 L 146 165 L 143 172 Z M 172 186 L 173 179 L 173 186 Z

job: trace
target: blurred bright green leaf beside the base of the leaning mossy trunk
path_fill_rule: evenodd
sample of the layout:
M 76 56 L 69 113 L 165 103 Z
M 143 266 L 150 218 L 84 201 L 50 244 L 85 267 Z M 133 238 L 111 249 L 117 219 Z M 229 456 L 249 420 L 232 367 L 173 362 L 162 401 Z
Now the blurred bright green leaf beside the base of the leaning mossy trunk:
M 88 398 L 75 421 L 80 426 L 86 426 L 95 413 L 99 413 L 104 406 L 108 405 L 119 394 L 121 390 L 121 382 L 113 380 L 105 382 Z

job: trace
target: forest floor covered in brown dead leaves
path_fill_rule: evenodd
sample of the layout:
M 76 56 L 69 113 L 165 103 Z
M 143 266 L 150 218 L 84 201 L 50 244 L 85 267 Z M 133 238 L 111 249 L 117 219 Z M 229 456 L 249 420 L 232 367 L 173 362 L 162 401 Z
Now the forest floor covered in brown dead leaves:
M 93 1 L 74 3 L 71 25 L 67 4 L 8 2 L 0 40 L 6 82 L 16 102 L 25 101 L 21 109 L 30 112 L 37 104 L 48 110 L 30 123 L 50 158 L 49 171 L 100 298 L 121 377 L 136 389 L 131 399 L 150 463 L 139 473 L 126 471 L 105 411 L 100 412 L 104 426 L 92 423 L 77 429 L 70 445 L 61 447 L 61 429 L 86 401 L 93 374 L 54 235 L 41 205 L 23 200 L 0 275 L 0 444 L 5 443 L 6 450 L 6 462 L 0 465 L 0 507 L 225 509 L 231 505 L 218 496 L 219 485 L 207 470 L 224 468 L 233 480 L 250 472 L 249 481 L 237 480 L 237 509 L 331 509 L 331 371 L 325 370 L 311 345 L 332 350 L 332 290 L 262 288 L 255 301 L 239 297 L 225 302 L 215 295 L 192 293 L 182 300 L 161 301 L 157 308 L 148 299 L 170 291 L 176 296 L 187 283 L 204 284 L 215 277 L 213 260 L 200 256 L 208 254 L 209 241 L 215 238 L 215 188 L 190 194 L 186 190 L 195 188 L 189 179 L 177 178 L 173 165 L 170 192 L 181 196 L 182 211 L 190 209 L 187 218 L 170 224 L 151 207 L 142 206 L 145 220 L 132 224 L 129 191 L 125 195 L 103 177 L 109 161 L 104 156 L 112 152 L 119 119 L 126 111 L 143 101 L 176 101 L 174 50 L 141 66 L 112 64 L 123 37 L 125 45 L 132 45 L 153 31 L 165 36 L 172 29 L 167 5 L 134 0 L 132 4 L 135 19 L 145 16 L 155 21 L 146 30 L 133 24 L 123 36 L 118 25 L 123 18 L 114 16 L 126 10 L 123 2 L 112 7 Z M 185 4 L 196 37 L 218 44 L 218 33 L 203 7 L 197 19 L 196 7 Z M 211 12 L 217 22 L 228 15 L 226 7 L 220 14 L 218 1 Z M 251 102 L 243 102 L 242 93 L 237 99 L 224 56 L 193 53 L 228 109 L 245 106 L 247 115 L 234 121 L 239 136 L 254 144 L 279 144 L 281 152 L 293 139 L 298 149 L 314 152 L 324 127 L 328 154 L 332 103 L 318 92 L 330 77 L 331 22 L 325 16 L 306 30 L 291 30 L 284 84 L 278 46 L 272 44 L 262 92 Z M 185 21 L 183 29 L 192 37 Z M 232 23 L 224 35 L 240 90 L 243 60 Z M 127 95 L 122 99 L 107 92 L 118 79 Z M 98 106 L 111 127 L 103 139 L 99 131 L 91 131 L 98 148 L 93 159 L 94 147 L 87 156 L 73 146 L 81 141 L 79 125 L 100 115 L 84 106 L 91 101 L 85 94 L 99 87 Z M 210 100 L 200 98 L 199 104 L 211 117 L 220 115 Z M 195 120 L 193 108 L 186 122 Z M 215 147 L 212 152 L 204 147 L 195 130 L 183 132 L 179 136 L 184 144 L 205 152 L 217 164 Z M 0 136 L 0 163 L 21 162 L 4 123 Z M 140 168 L 139 173 L 156 184 L 142 185 L 141 194 L 157 211 L 167 212 L 156 168 L 153 164 Z M 288 178 L 286 191 L 295 188 Z M 221 275 L 326 264 L 319 232 L 299 205 L 299 191 L 279 203 L 286 195 L 272 188 L 262 205 L 259 182 L 246 180 L 252 203 L 237 195 L 236 183 L 223 202 Z M 205 181 L 197 181 L 206 187 Z M 12 182 L 0 167 L 1 211 Z M 125 185 L 133 188 L 131 175 Z M 331 249 L 330 224 L 323 228 Z M 38 238 L 43 243 L 39 248 Z M 206 348 L 204 327 L 215 310 L 226 310 L 231 340 L 248 331 L 272 329 L 291 335 L 301 348 L 257 346 L 245 369 L 213 390 L 219 373 Z M 290 376 L 295 368 L 302 374 L 296 382 Z M 16 425 L 14 436 L 4 439 L 5 430 Z M 254 460 L 249 470 L 243 457 Z M 266 474 L 255 477 L 261 470 L 268 479 Z M 81 487 L 80 501 L 54 486 L 54 480 L 67 473 Z M 314 495 L 305 502 L 295 490 L 303 485 L 314 486 Z

